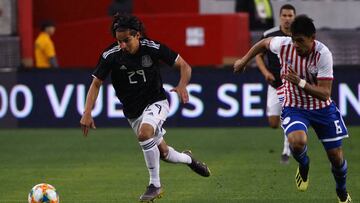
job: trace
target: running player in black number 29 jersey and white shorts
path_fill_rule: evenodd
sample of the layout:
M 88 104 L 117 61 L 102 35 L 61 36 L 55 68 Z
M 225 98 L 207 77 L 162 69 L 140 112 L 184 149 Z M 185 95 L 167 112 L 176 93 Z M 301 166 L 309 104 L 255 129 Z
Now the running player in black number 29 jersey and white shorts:
M 176 92 L 183 103 L 189 100 L 186 86 L 190 81 L 191 67 L 178 53 L 146 38 L 143 23 L 135 16 L 116 14 L 111 29 L 116 42 L 101 54 L 93 72 L 80 120 L 83 135 L 87 136 L 89 129 L 95 128 L 91 110 L 102 82 L 111 75 L 112 85 L 137 136 L 150 175 L 149 185 L 140 201 L 149 202 L 162 196 L 160 158 L 170 163 L 187 164 L 199 175 L 210 176 L 207 165 L 196 160 L 191 151 L 177 152 L 163 139 L 166 131 L 162 125 L 169 113 L 169 103 L 159 63 L 162 61 L 180 69 L 180 81 L 171 91 Z

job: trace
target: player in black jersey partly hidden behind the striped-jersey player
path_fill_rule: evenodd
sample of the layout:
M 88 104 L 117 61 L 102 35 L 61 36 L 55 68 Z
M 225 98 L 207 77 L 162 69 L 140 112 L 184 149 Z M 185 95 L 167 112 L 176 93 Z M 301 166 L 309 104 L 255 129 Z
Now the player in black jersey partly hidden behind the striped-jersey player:
M 294 21 L 296 15 L 295 8 L 290 4 L 285 4 L 280 8 L 280 26 L 276 26 L 264 32 L 261 39 L 275 36 L 290 36 L 290 25 Z M 267 58 L 267 65 L 265 65 L 264 56 Z M 281 115 L 281 101 L 282 97 L 278 97 L 278 93 L 282 93 L 282 82 L 280 79 L 280 62 L 276 54 L 271 51 L 260 53 L 256 55 L 256 64 L 261 73 L 264 75 L 268 85 L 266 114 L 268 116 L 269 125 L 271 128 L 278 128 L 280 126 Z M 279 92 L 276 90 L 278 89 Z M 289 142 L 286 135 L 284 135 L 284 148 L 281 153 L 280 163 L 288 164 L 290 156 Z

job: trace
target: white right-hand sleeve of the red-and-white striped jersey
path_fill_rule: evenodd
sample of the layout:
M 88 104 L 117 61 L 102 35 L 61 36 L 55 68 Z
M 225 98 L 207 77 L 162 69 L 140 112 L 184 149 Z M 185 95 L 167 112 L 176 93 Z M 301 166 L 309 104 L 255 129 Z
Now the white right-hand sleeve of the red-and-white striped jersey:
M 318 74 L 317 78 L 320 80 L 332 80 L 333 75 L 333 58 L 330 51 L 327 51 L 320 55 L 320 59 L 317 64 Z

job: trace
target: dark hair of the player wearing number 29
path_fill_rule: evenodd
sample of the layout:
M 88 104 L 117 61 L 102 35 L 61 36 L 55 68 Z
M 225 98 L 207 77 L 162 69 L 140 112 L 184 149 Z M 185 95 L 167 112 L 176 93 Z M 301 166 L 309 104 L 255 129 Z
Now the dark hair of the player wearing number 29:
M 135 36 L 137 32 L 140 32 L 142 37 L 145 37 L 144 24 L 136 16 L 129 14 L 116 13 L 113 16 L 111 23 L 111 33 L 113 37 L 116 36 L 116 32 L 130 31 L 132 36 Z

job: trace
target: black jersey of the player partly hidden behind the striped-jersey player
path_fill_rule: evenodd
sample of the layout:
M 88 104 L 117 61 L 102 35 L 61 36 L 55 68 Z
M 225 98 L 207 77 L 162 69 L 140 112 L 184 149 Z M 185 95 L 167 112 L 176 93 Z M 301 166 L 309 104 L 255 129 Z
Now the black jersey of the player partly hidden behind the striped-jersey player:
M 288 36 L 283 31 L 281 31 L 280 26 L 273 27 L 264 32 L 261 39 L 267 37 L 276 37 L 276 36 Z M 265 55 L 267 57 L 267 68 L 274 75 L 275 81 L 270 84 L 274 88 L 278 88 L 282 85 L 280 78 L 280 61 L 276 54 L 272 53 L 270 50 L 266 50 Z

